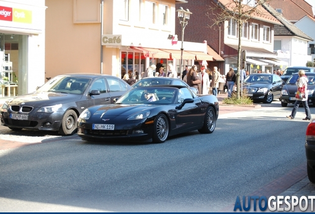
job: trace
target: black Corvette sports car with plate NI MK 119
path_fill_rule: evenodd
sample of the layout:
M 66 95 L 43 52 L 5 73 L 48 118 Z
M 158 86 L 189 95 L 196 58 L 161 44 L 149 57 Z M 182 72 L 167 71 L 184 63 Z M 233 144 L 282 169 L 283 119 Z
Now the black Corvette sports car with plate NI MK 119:
M 168 136 L 198 130 L 212 133 L 219 114 L 213 95 L 197 96 L 186 86 L 136 87 L 114 104 L 85 109 L 78 118 L 83 140 L 163 143 Z

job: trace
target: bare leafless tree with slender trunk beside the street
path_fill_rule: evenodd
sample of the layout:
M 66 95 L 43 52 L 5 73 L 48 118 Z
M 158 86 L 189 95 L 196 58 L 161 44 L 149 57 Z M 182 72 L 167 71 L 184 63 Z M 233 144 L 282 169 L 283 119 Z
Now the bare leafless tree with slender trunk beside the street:
M 219 25 L 225 21 L 237 23 L 238 30 L 238 49 L 237 49 L 237 98 L 242 96 L 240 90 L 240 74 L 241 74 L 241 54 L 242 54 L 242 30 L 244 22 L 254 16 L 261 16 L 268 13 L 263 9 L 262 4 L 268 3 L 269 0 L 212 0 L 212 5 L 208 5 L 211 12 L 207 12 L 207 16 L 212 21 L 209 27 Z M 217 11 L 220 12 L 217 12 Z M 270 15 L 268 13 L 268 15 Z M 224 25 L 223 25 L 224 26 Z M 245 60 L 245 59 L 244 59 Z

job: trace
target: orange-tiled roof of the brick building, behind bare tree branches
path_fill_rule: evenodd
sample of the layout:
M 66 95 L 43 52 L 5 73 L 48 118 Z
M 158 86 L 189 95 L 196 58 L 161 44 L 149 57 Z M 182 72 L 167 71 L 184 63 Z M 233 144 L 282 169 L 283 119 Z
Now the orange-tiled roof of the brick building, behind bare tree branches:
M 220 2 L 222 5 L 224 5 L 230 11 L 235 10 L 234 0 L 217 0 L 217 1 Z M 244 8 L 246 8 L 246 7 L 244 7 Z M 248 7 L 248 8 L 250 8 L 250 7 Z M 268 11 L 266 11 L 261 5 L 258 5 L 257 9 L 258 9 L 257 10 L 258 12 L 255 14 L 252 14 L 251 18 L 265 21 L 265 22 L 272 23 L 272 24 L 281 25 L 281 23 L 274 16 L 272 16 Z

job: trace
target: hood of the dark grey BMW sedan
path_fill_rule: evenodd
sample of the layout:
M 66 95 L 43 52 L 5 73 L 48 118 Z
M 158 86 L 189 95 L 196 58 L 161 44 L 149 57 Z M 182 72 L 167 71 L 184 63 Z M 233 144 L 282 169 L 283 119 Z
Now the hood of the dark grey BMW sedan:
M 64 104 L 76 102 L 80 100 L 82 95 L 64 94 L 54 92 L 32 93 L 21 95 L 8 101 L 8 105 L 21 105 L 32 107 L 52 106 L 56 104 Z

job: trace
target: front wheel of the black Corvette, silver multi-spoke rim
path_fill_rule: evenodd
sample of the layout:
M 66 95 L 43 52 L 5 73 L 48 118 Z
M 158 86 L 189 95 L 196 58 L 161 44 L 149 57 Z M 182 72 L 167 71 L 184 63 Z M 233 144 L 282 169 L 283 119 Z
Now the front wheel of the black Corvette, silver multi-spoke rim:
M 157 115 L 153 128 L 153 143 L 164 143 L 168 137 L 168 120 L 164 114 Z

